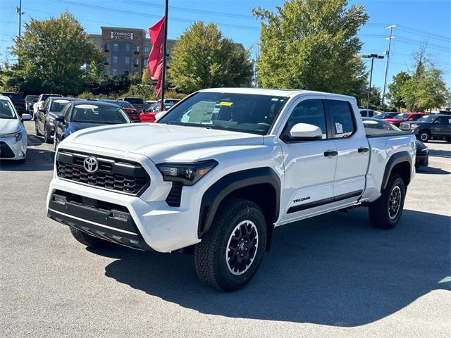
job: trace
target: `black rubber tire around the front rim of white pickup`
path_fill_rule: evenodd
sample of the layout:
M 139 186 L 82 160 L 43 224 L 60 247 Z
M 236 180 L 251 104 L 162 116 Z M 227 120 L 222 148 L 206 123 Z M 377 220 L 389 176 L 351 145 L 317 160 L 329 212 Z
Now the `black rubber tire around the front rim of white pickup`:
M 230 261 L 227 258 L 229 241 L 235 227 L 244 221 L 250 221 L 255 226 L 254 229 L 257 230 L 255 242 L 258 245 L 252 263 L 247 265 L 247 270 L 241 275 L 233 275 L 229 270 Z M 194 266 L 197 275 L 205 284 L 224 292 L 240 289 L 257 273 L 265 247 L 266 220 L 261 208 L 245 199 L 223 201 L 211 229 L 202 238 L 202 242 L 194 247 Z

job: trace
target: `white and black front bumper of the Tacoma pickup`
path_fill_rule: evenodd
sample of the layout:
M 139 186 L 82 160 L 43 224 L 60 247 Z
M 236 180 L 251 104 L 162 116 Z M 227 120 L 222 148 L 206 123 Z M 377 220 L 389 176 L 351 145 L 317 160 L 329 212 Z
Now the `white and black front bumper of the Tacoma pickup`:
M 74 206 L 70 201 L 56 204 L 55 195 L 61 192 L 78 195 L 85 199 L 87 205 Z M 144 201 L 137 196 L 109 192 L 55 177 L 47 196 L 47 214 L 60 223 L 111 242 L 135 249 L 171 252 L 200 242 L 197 237 L 200 201 L 191 196 L 190 189 L 186 189 L 182 194 L 181 207 L 177 208 L 168 206 L 164 195 L 161 201 Z M 124 223 L 112 217 L 113 208 L 109 211 L 103 207 L 100 211 L 94 210 L 96 204 L 120 206 L 123 212 L 128 213 L 132 227 L 119 227 Z

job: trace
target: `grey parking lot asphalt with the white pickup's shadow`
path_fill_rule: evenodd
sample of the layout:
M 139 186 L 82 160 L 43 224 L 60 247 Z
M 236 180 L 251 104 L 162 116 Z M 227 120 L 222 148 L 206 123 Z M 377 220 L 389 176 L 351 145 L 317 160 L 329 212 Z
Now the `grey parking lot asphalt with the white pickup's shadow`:
M 205 287 L 193 258 L 86 249 L 46 217 L 53 145 L 29 130 L 27 163 L 0 163 L 4 337 L 450 337 L 451 145 L 393 230 L 366 208 L 278 227 L 247 287 Z

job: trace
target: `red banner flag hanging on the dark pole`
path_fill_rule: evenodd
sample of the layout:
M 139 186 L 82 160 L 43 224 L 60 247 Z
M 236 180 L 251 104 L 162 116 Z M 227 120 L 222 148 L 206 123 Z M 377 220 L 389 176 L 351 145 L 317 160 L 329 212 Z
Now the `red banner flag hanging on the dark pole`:
M 158 23 L 149 28 L 152 51 L 147 61 L 150 77 L 156 80 L 156 96 L 161 97 L 161 81 L 163 76 L 163 46 L 164 46 L 164 21 L 163 16 Z

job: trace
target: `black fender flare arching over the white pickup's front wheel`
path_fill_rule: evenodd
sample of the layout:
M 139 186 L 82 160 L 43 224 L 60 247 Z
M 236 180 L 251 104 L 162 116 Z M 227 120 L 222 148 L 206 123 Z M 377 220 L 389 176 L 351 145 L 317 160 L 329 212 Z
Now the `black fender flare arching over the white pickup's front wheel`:
M 206 232 L 210 230 L 213 223 L 214 216 L 221 202 L 237 189 L 250 187 L 257 184 L 271 184 L 276 191 L 276 208 L 274 220 L 278 219 L 280 211 L 280 178 L 272 168 L 252 168 L 247 170 L 240 170 L 235 173 L 230 173 L 206 189 L 202 196 L 202 201 L 199 211 L 199 224 L 197 227 L 197 236 L 202 238 Z M 268 238 L 268 241 L 270 238 Z

